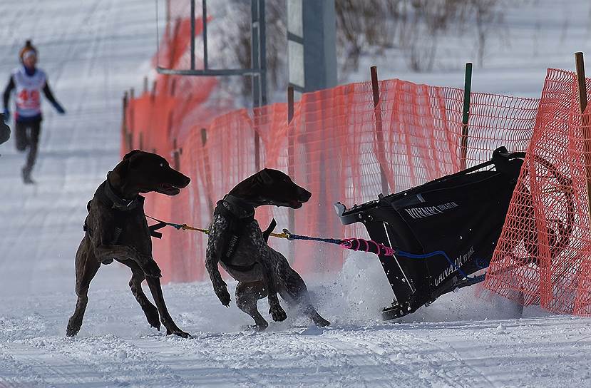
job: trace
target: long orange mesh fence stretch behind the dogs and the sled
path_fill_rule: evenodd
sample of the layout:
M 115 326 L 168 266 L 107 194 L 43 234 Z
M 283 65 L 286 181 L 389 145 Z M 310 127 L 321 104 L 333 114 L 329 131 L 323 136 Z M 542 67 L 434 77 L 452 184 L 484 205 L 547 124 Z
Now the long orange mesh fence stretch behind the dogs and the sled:
M 294 106 L 289 125 L 284 103 L 232 111 L 208 125 L 192 126 L 177 148 L 172 145 L 171 131 L 166 132 L 168 137 L 150 136 L 131 127 L 145 123 L 146 128 L 152 128 L 151 123 L 163 122 L 156 117 L 166 114 L 157 105 L 158 92 L 130 101 L 126 114 L 129 132 L 143 133 L 145 150 L 157 150 L 192 178 L 179 197 L 149 195 L 148 213 L 207 228 L 217 200 L 258 168 L 269 167 L 284 170 L 313 194 L 309 203 L 294 211 L 292 232 L 366 236 L 362 226 L 342 228 L 334 202 L 353 205 L 376 198 L 382 192 L 381 171 L 389 191 L 395 192 L 454 173 L 462 165 L 463 91 L 400 80 L 381 81 L 379 88 L 377 109 L 370 82 L 304 93 Z M 183 93 L 190 91 L 179 90 L 175 97 L 182 98 Z M 471 100 L 468 166 L 488 160 L 498 146 L 525 150 L 538 100 L 483 93 L 472 93 Z M 376 115 L 381 117 L 379 135 Z M 263 228 L 273 217 L 279 230 L 289 225 L 287 209 L 257 210 Z M 206 235 L 188 232 L 167 233 L 165 240 L 156 241 L 155 257 L 164 263 L 165 280 L 201 279 L 206 242 Z M 278 239 L 272 239 L 271 244 L 284 253 L 289 252 L 290 244 L 297 244 L 293 265 L 303 272 L 338 271 L 344 260 L 339 247 Z

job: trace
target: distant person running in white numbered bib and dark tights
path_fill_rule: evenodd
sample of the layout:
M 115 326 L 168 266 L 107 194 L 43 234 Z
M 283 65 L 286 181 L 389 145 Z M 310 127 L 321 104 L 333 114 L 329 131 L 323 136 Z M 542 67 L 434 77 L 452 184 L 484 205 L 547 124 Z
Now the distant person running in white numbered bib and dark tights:
M 37 49 L 31 45 L 31 41 L 26 41 L 25 46 L 21 48 L 19 53 L 22 66 L 12 71 L 9 83 L 4 89 L 5 121 L 10 120 L 10 93 L 13 89 L 16 89 L 16 111 L 14 113 L 16 149 L 22 152 L 29 147 L 29 155 L 27 155 L 26 164 L 22 169 L 24 183 L 34 183 L 31 179 L 31 171 L 37 157 L 41 120 L 43 120 L 41 115 L 41 91 L 58 113 L 66 113 L 60 103 L 56 101 L 56 98 L 53 97 L 45 72 L 41 68 L 35 67 L 37 56 Z

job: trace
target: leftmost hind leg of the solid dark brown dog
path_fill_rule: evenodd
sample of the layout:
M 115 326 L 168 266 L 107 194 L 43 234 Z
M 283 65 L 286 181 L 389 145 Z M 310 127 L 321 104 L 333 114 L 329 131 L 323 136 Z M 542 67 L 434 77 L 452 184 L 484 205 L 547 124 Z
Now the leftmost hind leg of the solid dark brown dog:
M 66 335 L 72 337 L 77 335 L 82 327 L 82 319 L 88 303 L 88 286 L 91 284 L 94 275 L 101 267 L 101 263 L 88 249 L 87 240 L 84 239 L 76 252 L 76 310 L 68 320 Z

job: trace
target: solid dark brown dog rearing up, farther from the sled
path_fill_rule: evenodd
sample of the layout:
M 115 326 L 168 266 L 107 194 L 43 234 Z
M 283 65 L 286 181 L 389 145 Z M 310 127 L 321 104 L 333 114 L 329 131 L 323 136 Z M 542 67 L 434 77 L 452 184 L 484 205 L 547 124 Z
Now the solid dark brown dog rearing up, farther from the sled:
M 108 173 L 88 203 L 84 224 L 86 235 L 76 252 L 76 311 L 68 321 L 66 335 L 78 334 L 88 302 L 88 285 L 101 267 L 114 260 L 131 268 L 131 292 L 142 307 L 148 323 L 166 334 L 189 337 L 170 317 L 162 287 L 160 268 L 152 257 L 152 240 L 139 193 L 155 191 L 177 195 L 190 178 L 170 168 L 165 158 L 155 153 L 133 150 Z M 141 283 L 148 282 L 156 307 L 145 296 Z

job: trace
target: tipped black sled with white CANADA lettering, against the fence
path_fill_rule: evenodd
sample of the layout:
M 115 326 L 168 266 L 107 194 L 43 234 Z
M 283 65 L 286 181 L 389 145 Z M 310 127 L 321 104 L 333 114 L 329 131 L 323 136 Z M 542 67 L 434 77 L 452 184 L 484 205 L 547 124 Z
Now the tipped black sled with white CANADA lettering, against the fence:
M 470 275 L 490 263 L 524 158 L 525 153 L 508 153 L 500 147 L 488 162 L 416 188 L 379 195 L 377 200 L 350 209 L 335 204 L 343 225 L 363 223 L 372 240 L 396 250 L 393 256 L 379 255 L 394 291 L 394 302 L 382 312 L 385 320 L 415 312 L 447 292 L 484 280 L 483 274 Z M 549 175 L 561 186 L 570 187 L 570 179 L 538 159 L 536 163 L 547 163 Z M 520 195 L 524 192 L 525 203 L 531 204 L 529 190 L 520 188 Z M 572 195 L 568 190 L 565 194 L 570 208 Z M 533 206 L 524 208 L 531 213 L 524 217 L 533 219 Z M 559 250 L 570 238 L 569 221 L 557 227 Z M 525 245 L 529 242 L 528 246 L 537 247 L 537 235 L 532 226 L 524 233 Z M 531 257 L 515 262 L 536 265 Z

